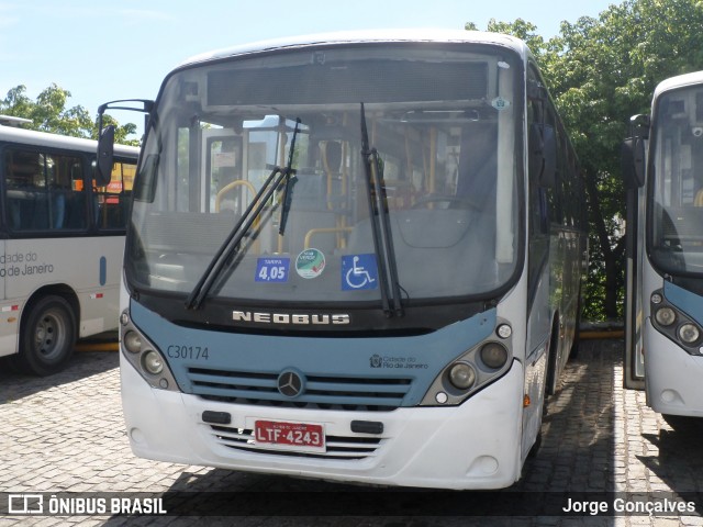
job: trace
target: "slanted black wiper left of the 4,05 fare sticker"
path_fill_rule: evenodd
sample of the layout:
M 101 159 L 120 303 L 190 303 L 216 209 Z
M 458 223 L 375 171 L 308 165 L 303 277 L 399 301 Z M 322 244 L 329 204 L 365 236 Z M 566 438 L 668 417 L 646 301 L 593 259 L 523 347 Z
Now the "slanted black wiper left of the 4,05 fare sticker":
M 239 221 L 234 225 L 226 239 L 222 243 L 215 256 L 212 258 L 205 272 L 200 277 L 198 283 L 193 288 L 193 290 L 188 295 L 186 300 L 186 309 L 187 310 L 198 310 L 202 304 L 203 300 L 210 293 L 212 285 L 220 278 L 224 269 L 226 269 L 231 261 L 230 259 L 234 255 L 236 250 L 238 250 L 239 244 L 242 239 L 246 236 L 249 228 L 259 216 L 268 200 L 274 195 L 274 192 L 281 186 L 283 180 L 286 180 L 284 189 L 283 189 L 283 205 L 281 209 L 281 221 L 279 233 L 282 235 L 284 232 L 286 220 L 288 218 L 288 211 L 290 210 L 290 202 L 292 200 L 292 188 L 295 183 L 295 170 L 291 167 L 293 162 L 293 154 L 295 148 L 295 136 L 298 135 L 298 125 L 300 124 L 300 119 L 295 121 L 295 130 L 293 131 L 293 137 L 290 144 L 290 155 L 288 157 L 288 166 L 274 167 L 271 173 L 266 179 L 259 191 L 256 193 L 249 206 L 246 208 L 244 214 Z

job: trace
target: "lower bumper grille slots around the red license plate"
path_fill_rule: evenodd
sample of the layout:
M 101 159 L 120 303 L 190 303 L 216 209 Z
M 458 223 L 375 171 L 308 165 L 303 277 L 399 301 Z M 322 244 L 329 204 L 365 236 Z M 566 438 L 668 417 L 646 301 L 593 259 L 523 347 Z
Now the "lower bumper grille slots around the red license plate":
M 274 450 L 266 446 L 257 445 L 254 439 L 254 430 L 234 428 L 228 426 L 210 425 L 214 440 L 228 448 L 246 452 L 265 453 L 271 456 L 288 456 L 298 458 L 322 458 L 338 460 L 360 460 L 376 455 L 382 444 L 378 437 L 342 437 L 325 436 L 324 452 L 300 452 L 288 450 Z

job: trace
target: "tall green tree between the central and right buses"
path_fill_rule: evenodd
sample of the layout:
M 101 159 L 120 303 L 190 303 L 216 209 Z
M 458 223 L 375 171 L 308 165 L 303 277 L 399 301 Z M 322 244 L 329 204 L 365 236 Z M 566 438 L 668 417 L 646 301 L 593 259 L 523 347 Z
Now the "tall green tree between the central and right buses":
M 467 23 L 467 29 L 477 29 Z M 540 65 L 587 182 L 590 218 L 584 316 L 623 315 L 625 195 L 620 147 L 629 117 L 647 113 L 661 80 L 703 69 L 702 0 L 627 0 L 598 19 L 562 22 L 545 41 L 517 19 L 488 31 L 524 40 Z

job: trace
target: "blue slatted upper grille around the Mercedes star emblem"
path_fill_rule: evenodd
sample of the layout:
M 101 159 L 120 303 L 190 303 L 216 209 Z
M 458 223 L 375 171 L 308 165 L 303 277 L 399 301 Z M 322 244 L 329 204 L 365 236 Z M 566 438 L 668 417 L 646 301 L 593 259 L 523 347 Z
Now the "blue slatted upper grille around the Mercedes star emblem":
M 306 375 L 302 393 L 288 397 L 277 373 L 189 368 L 192 393 L 208 401 L 295 408 L 390 412 L 410 391 L 408 378 Z

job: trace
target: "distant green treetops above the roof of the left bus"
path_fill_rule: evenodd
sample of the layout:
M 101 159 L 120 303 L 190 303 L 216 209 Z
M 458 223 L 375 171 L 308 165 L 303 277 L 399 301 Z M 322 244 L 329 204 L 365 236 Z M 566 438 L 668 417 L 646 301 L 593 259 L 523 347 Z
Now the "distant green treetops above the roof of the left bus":
M 16 86 L 8 91 L 0 101 L 0 114 L 24 117 L 32 121 L 25 127 L 40 132 L 68 135 L 71 137 L 97 138 L 98 127 L 88 110 L 81 105 L 67 108 L 70 92 L 55 83 L 42 91 L 36 101 L 26 96 L 26 87 Z M 109 115 L 107 124 L 115 125 L 115 141 L 123 144 L 137 145 L 138 141 L 127 137 L 136 132 L 136 125 L 127 123 L 123 126 Z

